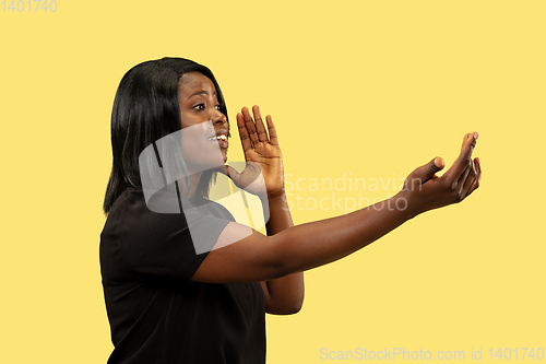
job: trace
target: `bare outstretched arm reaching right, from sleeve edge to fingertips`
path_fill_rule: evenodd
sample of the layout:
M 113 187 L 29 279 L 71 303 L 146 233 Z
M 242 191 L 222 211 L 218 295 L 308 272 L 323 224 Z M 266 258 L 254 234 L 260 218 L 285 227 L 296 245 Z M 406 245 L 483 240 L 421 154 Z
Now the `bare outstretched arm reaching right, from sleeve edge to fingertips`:
M 477 133 L 463 140 L 458 160 L 441 177 L 443 160 L 416 168 L 393 198 L 347 215 L 286 228 L 273 236 L 229 223 L 193 275 L 201 282 L 261 282 L 341 259 L 416 215 L 461 202 L 478 186 L 482 168 L 472 160 Z M 237 243 L 234 243 L 237 242 Z

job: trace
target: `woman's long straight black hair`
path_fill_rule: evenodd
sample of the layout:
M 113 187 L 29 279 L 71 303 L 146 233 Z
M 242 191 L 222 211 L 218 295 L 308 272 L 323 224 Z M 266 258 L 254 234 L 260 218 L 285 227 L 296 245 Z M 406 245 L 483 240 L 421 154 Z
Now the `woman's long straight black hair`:
M 183 73 L 201 72 L 216 87 L 221 111 L 227 118 L 224 95 L 212 71 L 185 58 L 163 58 L 136 64 L 121 79 L 111 111 L 112 166 L 103 204 L 107 214 L 128 187 L 142 187 L 139 155 L 158 139 L 181 129 L 178 81 Z M 215 173 L 204 172 L 197 198 L 209 195 Z

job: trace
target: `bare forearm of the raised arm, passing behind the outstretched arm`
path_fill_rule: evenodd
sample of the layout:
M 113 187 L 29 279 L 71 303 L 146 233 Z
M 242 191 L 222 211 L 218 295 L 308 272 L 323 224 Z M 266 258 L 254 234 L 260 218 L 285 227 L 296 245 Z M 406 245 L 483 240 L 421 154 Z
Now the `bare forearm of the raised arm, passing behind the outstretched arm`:
M 290 211 L 284 193 L 269 199 L 270 219 L 265 224 L 268 236 L 275 235 L 294 226 Z M 294 314 L 301 308 L 304 303 L 304 273 L 297 272 L 276 280 L 263 282 L 269 294 L 268 312 L 272 314 Z

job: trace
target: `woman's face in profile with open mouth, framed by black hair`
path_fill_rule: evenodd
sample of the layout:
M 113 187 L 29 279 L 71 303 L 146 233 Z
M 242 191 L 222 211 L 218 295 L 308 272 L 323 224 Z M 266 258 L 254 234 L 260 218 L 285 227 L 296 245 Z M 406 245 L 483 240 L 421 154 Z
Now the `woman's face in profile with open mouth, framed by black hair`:
M 182 153 L 189 167 L 198 171 L 217 166 L 218 160 L 223 161 L 222 164 L 226 163 L 229 125 L 219 111 L 214 83 L 201 72 L 182 74 L 178 82 L 178 104 Z

